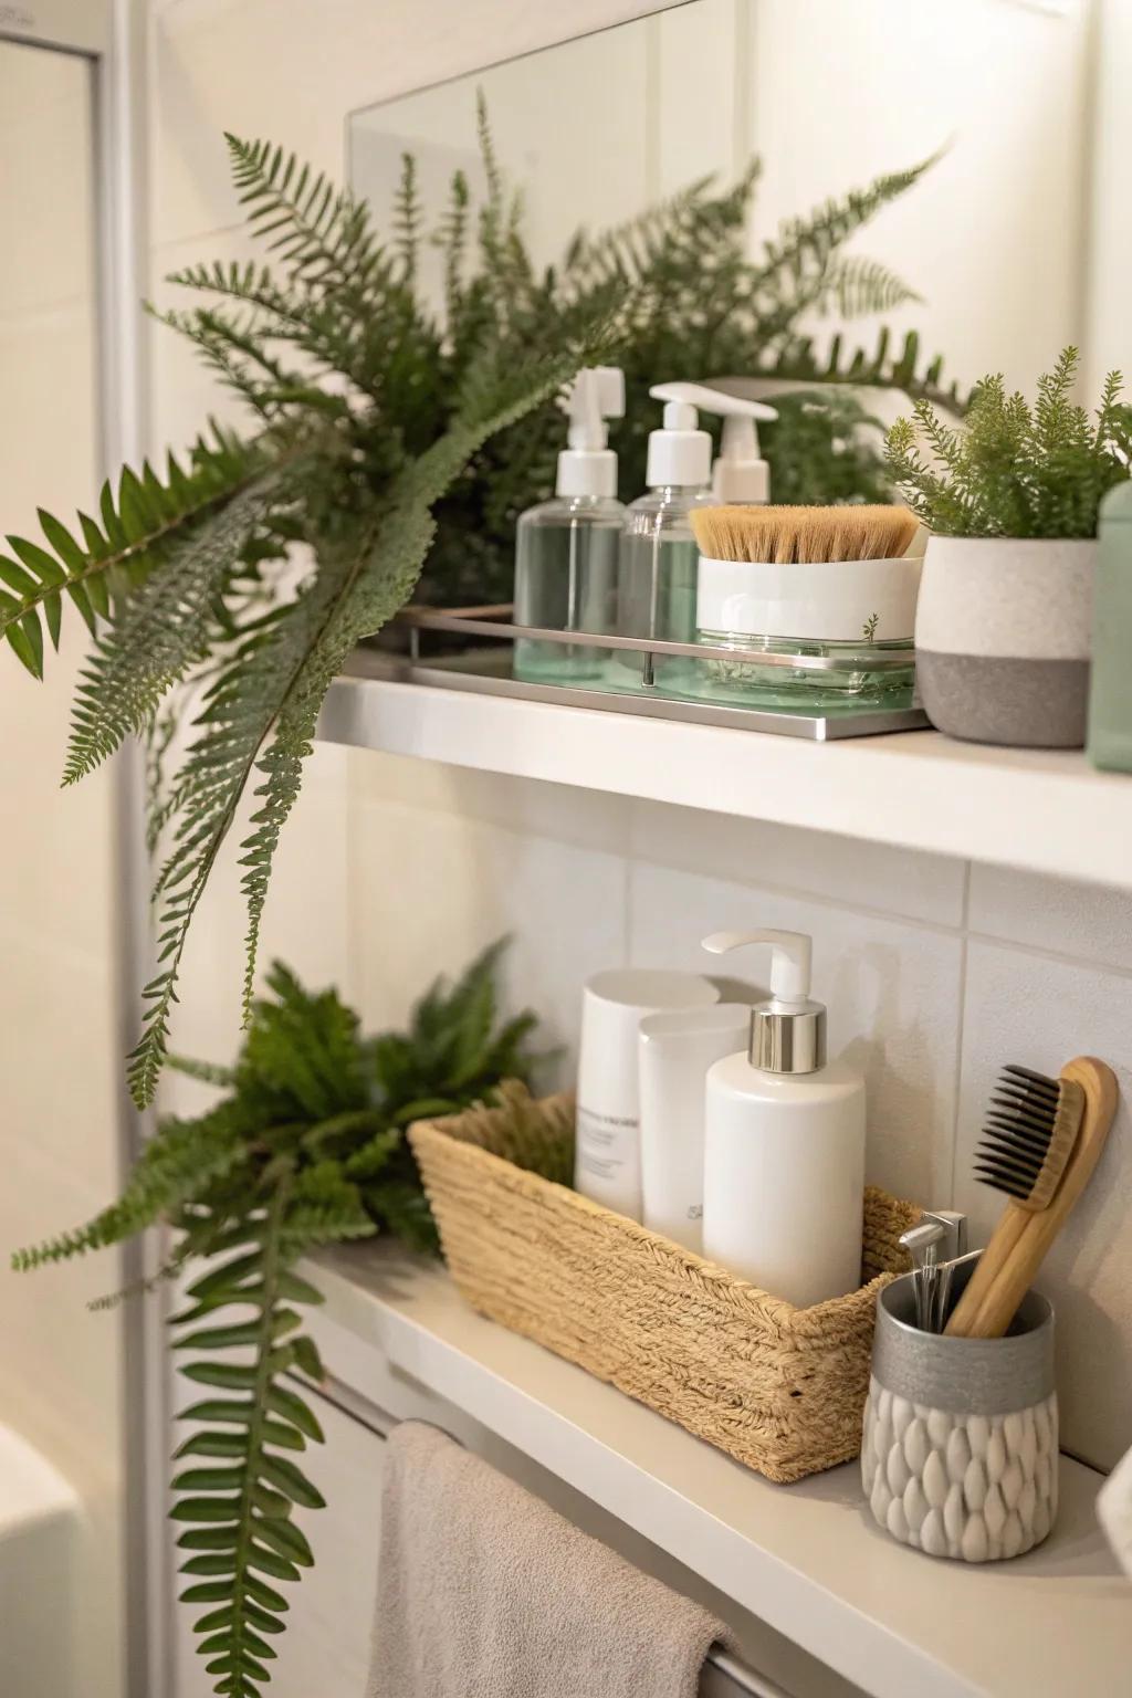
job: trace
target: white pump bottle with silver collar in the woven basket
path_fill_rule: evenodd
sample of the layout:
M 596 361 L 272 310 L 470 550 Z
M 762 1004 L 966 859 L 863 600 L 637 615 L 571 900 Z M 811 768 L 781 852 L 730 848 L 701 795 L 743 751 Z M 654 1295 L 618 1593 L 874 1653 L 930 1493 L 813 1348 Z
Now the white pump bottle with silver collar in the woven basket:
M 771 1000 L 750 1010 L 750 1049 L 708 1071 L 704 1255 L 803 1309 L 860 1285 L 866 1083 L 825 1058 L 810 937 L 704 937 L 713 954 L 743 944 L 771 944 Z

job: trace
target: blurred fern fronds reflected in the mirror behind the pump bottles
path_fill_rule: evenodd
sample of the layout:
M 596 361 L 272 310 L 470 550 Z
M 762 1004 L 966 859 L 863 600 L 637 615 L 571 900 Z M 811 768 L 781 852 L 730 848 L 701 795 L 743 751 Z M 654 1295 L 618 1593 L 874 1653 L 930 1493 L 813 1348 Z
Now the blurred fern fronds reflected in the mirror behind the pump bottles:
M 477 228 L 468 216 L 467 180 L 457 173 L 438 233 L 450 319 L 497 316 L 530 336 L 563 295 L 606 284 L 633 287 L 616 348 L 626 389 L 614 443 L 623 499 L 645 487 L 648 431 L 658 418 L 648 389 L 660 379 L 730 375 L 804 385 L 806 394 L 776 396 L 779 421 L 760 433 L 781 501 L 891 499 L 883 431 L 850 385 L 898 387 L 962 411 L 957 387 L 944 387 L 942 358 L 925 362 L 915 331 L 894 343 L 881 329 L 874 346 L 860 348 L 840 333 L 818 346 L 801 329 L 815 314 L 874 316 L 918 299 L 886 267 L 843 248 L 915 188 L 933 160 L 823 202 L 786 222 L 752 256 L 755 161 L 730 187 L 703 178 L 625 229 L 579 233 L 558 265 L 538 272 L 523 236 L 521 194 L 509 188 L 494 158 L 482 100 L 479 124 L 496 212 L 487 228 L 482 219 Z M 514 525 L 519 513 L 552 494 L 562 443 L 562 413 L 553 401 L 484 443 L 436 508 L 436 540 L 419 599 L 460 606 L 511 598 Z

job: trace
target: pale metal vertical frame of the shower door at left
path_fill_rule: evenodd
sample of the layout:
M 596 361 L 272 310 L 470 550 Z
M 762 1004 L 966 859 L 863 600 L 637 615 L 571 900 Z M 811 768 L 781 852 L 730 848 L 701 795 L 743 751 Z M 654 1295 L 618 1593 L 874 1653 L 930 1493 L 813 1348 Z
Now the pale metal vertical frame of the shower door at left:
M 100 475 L 139 464 L 148 445 L 146 340 L 146 0 L 0 0 L 0 42 L 68 53 L 92 73 L 97 241 Z M 134 747 L 114 761 L 114 1032 L 126 1054 L 141 1027 L 151 932 L 143 830 L 144 774 Z M 149 1131 L 119 1068 L 117 1158 L 126 1175 Z M 153 1234 L 149 1234 L 153 1238 Z M 160 1246 L 122 1251 L 126 1284 L 156 1272 Z M 161 1302 L 124 1311 L 122 1479 L 126 1698 L 171 1698 L 171 1566 L 166 1535 L 166 1387 Z

